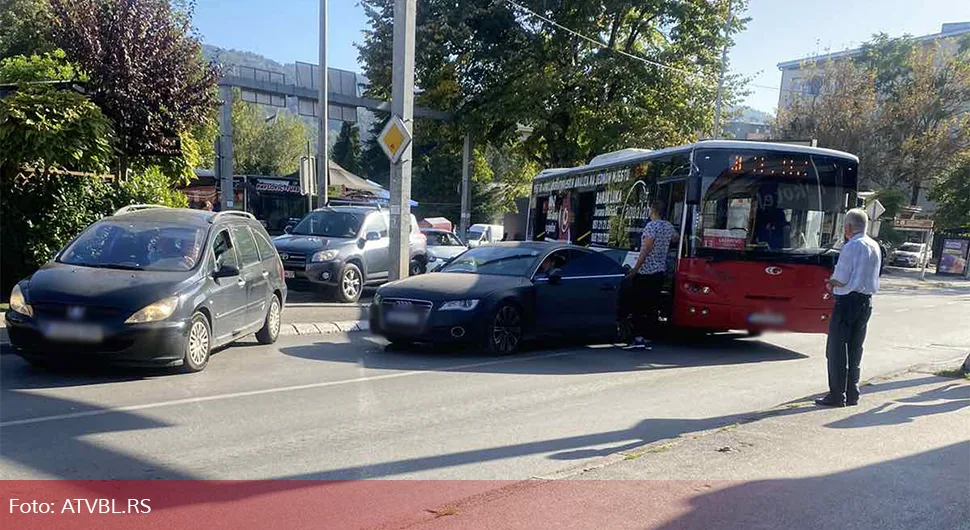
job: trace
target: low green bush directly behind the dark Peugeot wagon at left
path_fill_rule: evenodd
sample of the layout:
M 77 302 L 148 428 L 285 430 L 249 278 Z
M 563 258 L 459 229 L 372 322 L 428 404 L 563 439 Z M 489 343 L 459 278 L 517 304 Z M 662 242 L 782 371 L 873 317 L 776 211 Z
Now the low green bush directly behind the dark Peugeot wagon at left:
M 152 169 L 116 184 L 97 177 L 35 172 L 0 182 L 0 297 L 33 274 L 91 223 L 129 204 L 184 207 L 182 193 Z

